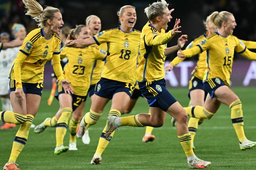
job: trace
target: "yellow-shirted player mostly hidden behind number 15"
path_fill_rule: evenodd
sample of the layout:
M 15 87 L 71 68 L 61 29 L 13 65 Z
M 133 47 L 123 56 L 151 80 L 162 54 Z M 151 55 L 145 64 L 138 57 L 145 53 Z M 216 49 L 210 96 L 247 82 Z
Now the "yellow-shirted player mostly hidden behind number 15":
M 206 32 L 203 33 L 203 35 L 199 36 L 197 39 L 193 40 L 188 46 L 187 49 L 194 47 L 198 43 L 200 43 L 205 37 L 212 35 L 217 30 L 213 28 L 212 24 L 210 23 L 210 16 L 207 16 L 206 21 L 203 22 L 206 28 Z M 256 42 L 254 41 L 245 41 L 241 40 L 248 49 L 254 49 L 256 48 Z M 203 106 L 205 103 L 205 99 L 207 96 L 207 91 L 203 86 L 203 76 L 204 72 L 207 69 L 207 63 L 206 63 L 206 57 L 207 53 L 206 51 L 203 51 L 202 53 L 198 54 L 198 61 L 197 65 L 195 66 L 194 70 L 191 73 L 191 79 L 189 81 L 189 98 L 190 98 L 190 104 L 192 106 Z M 185 59 L 185 58 L 183 58 Z M 168 66 L 166 66 L 167 71 L 171 71 L 173 69 L 173 66 L 178 65 L 183 60 L 179 60 L 179 57 L 175 57 L 174 60 L 170 62 Z M 191 106 L 190 105 L 190 106 Z M 188 127 L 189 127 L 189 133 L 191 134 L 191 139 L 193 143 L 193 149 L 194 147 L 194 138 L 195 134 L 198 128 L 198 125 L 202 124 L 204 119 L 198 119 L 194 117 L 189 118 Z M 172 125 L 175 126 L 176 120 L 174 118 L 171 119 Z

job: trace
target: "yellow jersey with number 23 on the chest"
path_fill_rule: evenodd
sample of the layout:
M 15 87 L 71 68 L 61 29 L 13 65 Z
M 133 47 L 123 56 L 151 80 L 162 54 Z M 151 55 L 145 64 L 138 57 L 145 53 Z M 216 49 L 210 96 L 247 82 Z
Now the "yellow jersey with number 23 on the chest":
M 63 70 L 64 77 L 72 82 L 74 94 L 87 95 L 94 63 L 96 60 L 104 60 L 105 56 L 105 52 L 102 52 L 96 45 L 86 48 L 62 48 L 61 58 L 67 57 L 69 60 Z

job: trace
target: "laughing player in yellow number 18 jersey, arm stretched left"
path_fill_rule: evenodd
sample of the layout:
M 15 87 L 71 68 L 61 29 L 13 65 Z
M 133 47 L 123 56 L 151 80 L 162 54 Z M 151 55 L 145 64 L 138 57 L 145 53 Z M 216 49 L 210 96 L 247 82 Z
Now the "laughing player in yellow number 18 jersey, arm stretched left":
M 96 43 L 98 45 L 108 44 L 106 64 L 102 69 L 101 79 L 96 84 L 90 112 L 85 114 L 79 124 L 77 132 L 79 138 L 84 135 L 86 126 L 97 123 L 109 100 L 112 99 L 109 115 L 120 117 L 121 113 L 124 113 L 135 86 L 136 60 L 140 46 L 140 31 L 133 28 L 136 23 L 135 7 L 125 5 L 120 8 L 117 15 L 121 23 L 120 27 L 102 31 L 86 40 L 66 41 L 67 45 L 75 47 Z M 92 164 L 101 162 L 101 154 L 110 141 L 105 137 L 105 128 L 91 161 Z

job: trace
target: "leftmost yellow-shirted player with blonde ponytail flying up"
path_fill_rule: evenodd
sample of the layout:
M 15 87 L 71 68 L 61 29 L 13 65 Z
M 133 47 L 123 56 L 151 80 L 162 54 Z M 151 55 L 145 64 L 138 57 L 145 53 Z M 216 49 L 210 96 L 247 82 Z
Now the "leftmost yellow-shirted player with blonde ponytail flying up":
M 58 8 L 43 7 L 35 0 L 23 0 L 30 15 L 39 23 L 39 27 L 31 31 L 24 39 L 17 58 L 10 70 L 10 97 L 14 112 L 3 111 L 1 120 L 20 124 L 15 135 L 9 161 L 4 170 L 20 170 L 16 159 L 27 142 L 30 126 L 36 115 L 43 89 L 44 64 L 53 58 L 54 71 L 62 87 L 68 93 L 73 92 L 65 80 L 60 65 L 60 43 L 58 33 L 63 25 L 62 15 Z

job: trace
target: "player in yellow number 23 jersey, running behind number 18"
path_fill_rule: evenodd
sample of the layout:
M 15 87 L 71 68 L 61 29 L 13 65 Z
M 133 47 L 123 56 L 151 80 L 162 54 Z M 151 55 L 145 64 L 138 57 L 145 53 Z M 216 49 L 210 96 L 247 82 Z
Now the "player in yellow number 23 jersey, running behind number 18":
M 77 25 L 75 29 L 70 32 L 72 39 L 88 39 L 91 37 L 91 32 L 85 25 Z M 58 118 L 56 114 L 57 128 L 56 128 L 56 148 L 54 154 L 59 155 L 67 150 L 77 150 L 76 147 L 76 130 L 85 106 L 87 92 L 90 87 L 91 74 L 96 60 L 105 60 L 106 52 L 98 49 L 97 46 L 89 46 L 86 48 L 70 48 L 64 47 L 61 50 L 61 58 L 65 58 L 69 62 L 64 68 L 64 77 L 72 81 L 74 94 L 65 95 L 64 90 L 58 84 L 58 94 L 55 96 L 59 100 L 59 111 L 66 108 L 72 108 L 72 118 L 69 121 L 70 141 L 69 147 L 63 146 L 63 140 L 66 134 L 67 122 L 72 112 L 62 113 Z M 58 111 L 58 112 L 59 112 Z M 53 119 L 53 118 L 52 118 Z M 50 124 L 54 124 L 51 120 Z M 47 126 L 38 125 L 35 128 L 36 133 L 42 132 Z

